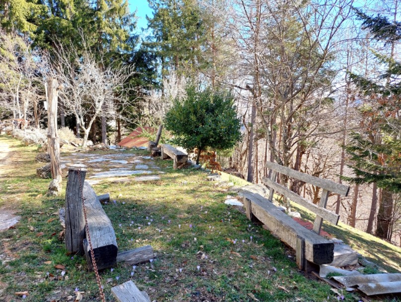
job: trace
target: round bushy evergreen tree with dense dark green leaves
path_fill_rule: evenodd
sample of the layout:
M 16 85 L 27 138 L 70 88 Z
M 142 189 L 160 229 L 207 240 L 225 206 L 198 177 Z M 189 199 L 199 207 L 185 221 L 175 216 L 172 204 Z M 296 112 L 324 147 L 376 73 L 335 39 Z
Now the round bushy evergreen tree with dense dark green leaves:
M 225 91 L 187 87 L 186 97 L 174 100 L 164 122 L 174 135 L 173 143 L 188 150 L 198 149 L 196 164 L 207 147 L 225 150 L 241 139 L 234 97 Z

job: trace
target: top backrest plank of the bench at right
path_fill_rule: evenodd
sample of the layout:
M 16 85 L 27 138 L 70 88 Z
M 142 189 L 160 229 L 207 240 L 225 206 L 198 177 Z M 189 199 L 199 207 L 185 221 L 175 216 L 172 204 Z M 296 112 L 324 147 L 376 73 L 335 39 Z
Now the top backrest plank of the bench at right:
M 300 181 L 308 182 L 310 184 L 326 189 L 327 191 L 340 194 L 342 196 L 347 196 L 349 192 L 348 185 L 340 184 L 334 181 L 324 180 L 319 177 L 301 173 L 299 171 L 295 171 L 293 169 L 281 166 L 276 163 L 266 162 L 266 167 L 274 171 L 277 171 L 281 174 L 287 175 Z

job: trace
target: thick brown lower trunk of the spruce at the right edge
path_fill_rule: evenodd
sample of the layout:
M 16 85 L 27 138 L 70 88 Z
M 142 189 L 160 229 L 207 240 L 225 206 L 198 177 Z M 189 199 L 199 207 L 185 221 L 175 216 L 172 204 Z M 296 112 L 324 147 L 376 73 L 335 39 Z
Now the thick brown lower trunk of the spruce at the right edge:
M 382 189 L 382 200 L 377 214 L 376 235 L 382 239 L 390 240 L 390 225 L 393 212 L 393 194 L 387 188 Z

